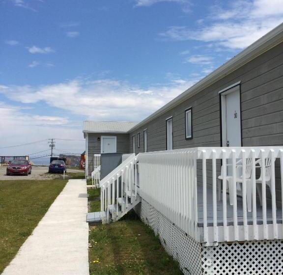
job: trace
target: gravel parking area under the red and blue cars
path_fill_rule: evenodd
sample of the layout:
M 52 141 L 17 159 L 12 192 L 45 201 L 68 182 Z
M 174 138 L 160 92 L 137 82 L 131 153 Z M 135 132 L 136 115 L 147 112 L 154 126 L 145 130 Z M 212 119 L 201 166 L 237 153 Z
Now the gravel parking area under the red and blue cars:
M 83 170 L 67 168 L 67 173 L 84 173 Z M 0 180 L 48 180 L 60 177 L 61 174 L 48 174 L 48 167 L 32 167 L 31 175 L 7 176 L 6 166 L 0 166 Z M 67 178 L 66 178 L 67 179 Z

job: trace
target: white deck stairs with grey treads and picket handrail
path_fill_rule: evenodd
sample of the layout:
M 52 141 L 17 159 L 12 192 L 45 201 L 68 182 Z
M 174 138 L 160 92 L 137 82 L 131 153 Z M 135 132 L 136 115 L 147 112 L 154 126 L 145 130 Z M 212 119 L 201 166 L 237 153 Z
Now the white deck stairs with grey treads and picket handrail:
M 121 219 L 138 203 L 138 156 L 132 154 L 100 181 L 101 211 L 88 213 L 86 221 L 109 223 Z

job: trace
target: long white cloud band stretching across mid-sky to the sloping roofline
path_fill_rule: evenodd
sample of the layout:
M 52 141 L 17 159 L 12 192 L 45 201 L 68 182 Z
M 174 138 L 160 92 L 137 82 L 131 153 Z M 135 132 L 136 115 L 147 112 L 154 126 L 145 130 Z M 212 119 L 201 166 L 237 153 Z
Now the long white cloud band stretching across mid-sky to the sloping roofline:
M 167 86 L 141 88 L 109 79 L 39 87 L 10 85 L 0 93 L 23 104 L 45 102 L 51 107 L 96 120 L 141 120 L 196 83 L 172 79 Z M 146 106 L 146 108 L 142 108 Z

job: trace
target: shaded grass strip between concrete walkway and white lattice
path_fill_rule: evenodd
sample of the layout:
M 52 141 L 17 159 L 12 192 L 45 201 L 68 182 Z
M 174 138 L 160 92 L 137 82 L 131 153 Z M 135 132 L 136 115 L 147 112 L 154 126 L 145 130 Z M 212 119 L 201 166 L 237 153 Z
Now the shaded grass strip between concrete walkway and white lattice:
M 100 211 L 99 189 L 88 191 L 89 212 Z M 181 275 L 154 232 L 134 211 L 117 222 L 90 226 L 90 275 Z

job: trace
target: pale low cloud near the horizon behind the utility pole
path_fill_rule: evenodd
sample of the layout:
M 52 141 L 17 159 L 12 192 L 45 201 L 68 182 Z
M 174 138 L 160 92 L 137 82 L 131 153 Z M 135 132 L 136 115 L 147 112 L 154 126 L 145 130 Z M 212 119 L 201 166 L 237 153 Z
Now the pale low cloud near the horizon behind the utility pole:
M 70 123 L 66 117 L 30 115 L 25 112 L 24 108 L 7 105 L 4 102 L 0 102 L 0 117 L 0 147 L 46 138 L 66 138 L 82 141 L 61 141 L 57 139 L 56 148 L 68 148 L 71 153 L 84 151 L 82 123 L 79 125 L 73 122 Z M 47 141 L 15 148 L 0 148 L 0 155 L 26 155 L 47 150 L 49 149 Z M 49 153 L 45 152 L 38 155 L 44 154 Z

